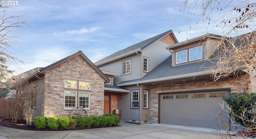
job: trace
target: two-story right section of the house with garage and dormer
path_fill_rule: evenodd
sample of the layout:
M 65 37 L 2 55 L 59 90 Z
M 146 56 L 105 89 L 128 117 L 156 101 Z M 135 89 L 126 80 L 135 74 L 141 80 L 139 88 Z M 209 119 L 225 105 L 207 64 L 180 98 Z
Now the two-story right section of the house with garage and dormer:
M 206 34 L 178 43 L 170 30 L 96 62 L 101 70 L 117 73 L 118 87 L 130 90 L 118 98 L 121 119 L 219 127 L 213 115 L 220 111 L 222 96 L 255 91 L 255 81 L 242 76 L 214 82 L 208 59 L 214 58 L 220 37 Z

